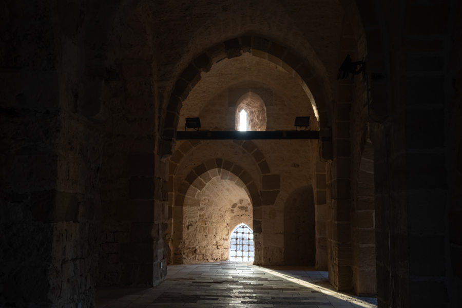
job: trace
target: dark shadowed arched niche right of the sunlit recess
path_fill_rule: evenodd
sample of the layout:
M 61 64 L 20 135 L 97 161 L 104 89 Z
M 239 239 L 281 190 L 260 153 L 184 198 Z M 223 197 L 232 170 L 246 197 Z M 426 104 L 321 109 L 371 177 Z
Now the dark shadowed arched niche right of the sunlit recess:
M 315 265 L 315 206 L 312 186 L 292 192 L 284 206 L 284 262 Z

